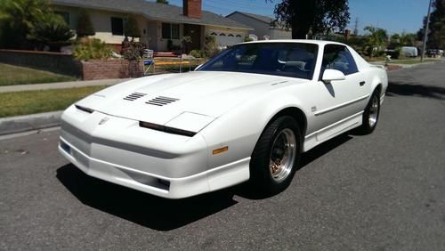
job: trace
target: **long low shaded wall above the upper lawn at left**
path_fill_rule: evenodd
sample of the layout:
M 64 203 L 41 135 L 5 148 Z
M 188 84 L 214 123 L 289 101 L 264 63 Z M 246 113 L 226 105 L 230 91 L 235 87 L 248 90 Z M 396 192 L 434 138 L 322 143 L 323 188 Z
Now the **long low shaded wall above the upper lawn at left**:
M 0 62 L 82 77 L 82 65 L 70 54 L 0 50 Z

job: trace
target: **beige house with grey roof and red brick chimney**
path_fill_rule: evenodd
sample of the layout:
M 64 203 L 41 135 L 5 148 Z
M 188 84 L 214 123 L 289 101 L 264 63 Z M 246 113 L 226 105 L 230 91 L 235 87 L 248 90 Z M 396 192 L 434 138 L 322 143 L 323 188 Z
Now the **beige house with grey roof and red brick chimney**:
M 154 51 L 168 51 L 168 44 L 179 46 L 182 36 L 190 36 L 190 50 L 202 49 L 206 35 L 216 37 L 220 46 L 244 41 L 252 28 L 235 20 L 201 9 L 201 0 L 183 0 L 183 8 L 144 0 L 52 0 L 59 13 L 73 29 L 85 9 L 96 34 L 109 45 L 120 47 L 125 39 L 125 19 L 134 15 L 142 32 L 142 43 Z M 169 42 L 171 40 L 171 42 Z

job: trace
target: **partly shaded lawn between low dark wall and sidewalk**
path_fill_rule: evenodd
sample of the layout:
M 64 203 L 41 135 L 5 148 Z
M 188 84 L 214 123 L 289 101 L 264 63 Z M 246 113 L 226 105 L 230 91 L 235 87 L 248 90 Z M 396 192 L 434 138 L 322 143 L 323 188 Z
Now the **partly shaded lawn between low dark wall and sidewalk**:
M 0 86 L 75 81 L 76 77 L 0 63 Z

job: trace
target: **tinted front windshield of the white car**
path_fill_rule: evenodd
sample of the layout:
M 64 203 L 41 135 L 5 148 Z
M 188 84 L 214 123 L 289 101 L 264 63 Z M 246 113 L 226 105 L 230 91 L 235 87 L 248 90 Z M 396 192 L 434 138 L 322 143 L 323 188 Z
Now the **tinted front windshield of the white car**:
M 198 70 L 236 71 L 312 79 L 318 45 L 252 43 L 235 45 Z

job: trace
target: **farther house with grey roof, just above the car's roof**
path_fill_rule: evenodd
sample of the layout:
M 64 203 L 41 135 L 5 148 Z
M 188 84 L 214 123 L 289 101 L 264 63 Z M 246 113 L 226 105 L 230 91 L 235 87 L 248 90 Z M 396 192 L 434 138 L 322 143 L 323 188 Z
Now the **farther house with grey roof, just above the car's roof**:
M 277 26 L 275 20 L 271 17 L 247 12 L 232 12 L 227 15 L 226 18 L 254 28 L 251 33 L 257 36 L 260 40 L 292 38 L 292 32 L 286 28 Z

